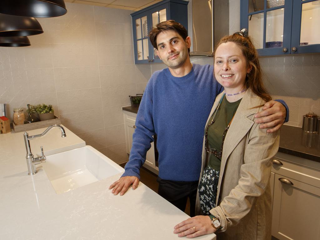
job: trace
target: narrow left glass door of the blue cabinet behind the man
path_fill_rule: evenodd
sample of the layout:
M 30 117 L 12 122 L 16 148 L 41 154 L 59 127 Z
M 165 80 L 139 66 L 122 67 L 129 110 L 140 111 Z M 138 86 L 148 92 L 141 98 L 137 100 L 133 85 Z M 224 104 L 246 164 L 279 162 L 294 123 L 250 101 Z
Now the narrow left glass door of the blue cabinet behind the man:
M 148 43 L 148 20 L 143 16 L 135 20 L 136 23 L 136 48 L 138 60 L 148 60 L 149 43 Z

